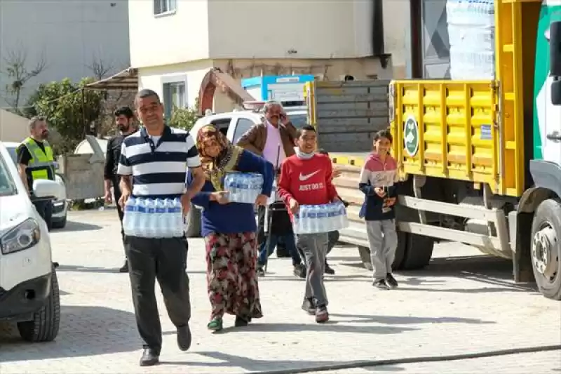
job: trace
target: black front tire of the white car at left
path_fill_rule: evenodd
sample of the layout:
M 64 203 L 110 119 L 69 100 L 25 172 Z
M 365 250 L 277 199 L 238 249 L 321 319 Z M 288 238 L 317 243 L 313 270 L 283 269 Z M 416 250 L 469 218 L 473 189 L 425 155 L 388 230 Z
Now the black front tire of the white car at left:
M 33 314 L 32 321 L 18 322 L 23 340 L 28 342 L 50 342 L 55 340 L 60 326 L 60 295 L 55 269 L 50 278 L 50 293 L 46 305 Z

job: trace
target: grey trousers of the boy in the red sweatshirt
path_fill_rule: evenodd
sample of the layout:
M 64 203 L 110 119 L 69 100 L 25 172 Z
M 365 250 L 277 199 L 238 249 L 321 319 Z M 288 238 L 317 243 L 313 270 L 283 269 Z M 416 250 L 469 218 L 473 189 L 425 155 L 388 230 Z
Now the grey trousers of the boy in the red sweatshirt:
M 306 261 L 306 294 L 304 297 L 313 298 L 318 306 L 327 306 L 327 295 L 325 294 L 325 286 L 323 286 L 327 242 L 327 232 L 300 234 L 296 237 L 296 244 L 304 253 Z

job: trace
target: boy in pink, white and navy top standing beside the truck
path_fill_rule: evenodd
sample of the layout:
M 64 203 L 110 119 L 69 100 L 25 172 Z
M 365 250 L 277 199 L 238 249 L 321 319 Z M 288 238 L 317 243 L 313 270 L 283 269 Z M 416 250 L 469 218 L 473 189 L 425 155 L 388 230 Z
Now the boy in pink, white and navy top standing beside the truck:
M 358 188 L 365 194 L 359 216 L 365 219 L 370 260 L 374 268 L 374 283 L 381 290 L 396 288 L 398 282 L 391 274 L 396 257 L 398 234 L 396 232 L 396 160 L 390 156 L 392 136 L 389 130 L 374 135 L 374 151 L 368 155 L 360 171 Z

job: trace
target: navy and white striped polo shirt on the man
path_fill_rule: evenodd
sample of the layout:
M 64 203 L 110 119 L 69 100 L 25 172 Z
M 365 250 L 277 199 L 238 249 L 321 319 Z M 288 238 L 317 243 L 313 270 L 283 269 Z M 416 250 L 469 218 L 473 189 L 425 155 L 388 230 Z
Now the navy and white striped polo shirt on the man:
M 174 198 L 185 192 L 187 168 L 199 166 L 187 131 L 165 126 L 161 137 L 154 137 L 142 127 L 123 140 L 117 174 L 133 175 L 133 196 Z

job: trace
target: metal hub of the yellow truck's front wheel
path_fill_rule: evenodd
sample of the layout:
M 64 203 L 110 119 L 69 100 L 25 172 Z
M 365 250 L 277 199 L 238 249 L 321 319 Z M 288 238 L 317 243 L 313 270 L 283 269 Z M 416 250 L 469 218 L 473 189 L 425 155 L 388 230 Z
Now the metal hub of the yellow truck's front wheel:
M 532 241 L 532 263 L 534 268 L 548 280 L 555 279 L 557 273 L 557 236 L 555 230 L 546 224 L 534 234 Z

